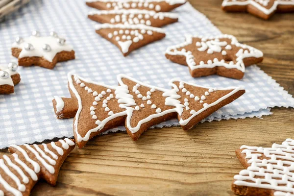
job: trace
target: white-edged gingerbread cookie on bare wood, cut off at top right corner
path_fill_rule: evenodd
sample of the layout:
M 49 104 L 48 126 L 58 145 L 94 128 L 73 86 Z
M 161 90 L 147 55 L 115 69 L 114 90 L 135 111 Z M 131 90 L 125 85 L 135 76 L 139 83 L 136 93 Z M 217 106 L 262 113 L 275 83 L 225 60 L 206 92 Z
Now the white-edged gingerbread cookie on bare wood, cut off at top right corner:
M 275 12 L 294 12 L 294 0 L 223 0 L 224 11 L 249 12 L 262 19 L 269 19 Z

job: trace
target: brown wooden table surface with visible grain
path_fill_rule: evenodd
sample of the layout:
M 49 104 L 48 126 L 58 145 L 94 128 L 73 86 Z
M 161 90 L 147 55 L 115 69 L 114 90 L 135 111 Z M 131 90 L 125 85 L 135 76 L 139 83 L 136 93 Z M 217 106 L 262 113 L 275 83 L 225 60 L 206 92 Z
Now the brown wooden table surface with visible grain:
M 262 50 L 259 67 L 294 94 L 294 14 L 264 21 L 247 13 L 224 13 L 221 0 L 190 2 L 223 33 Z M 150 129 L 137 142 L 124 132 L 93 138 L 69 155 L 55 187 L 41 181 L 32 195 L 233 196 L 233 176 L 243 169 L 235 149 L 294 138 L 294 109 L 271 111 L 263 119 L 202 123 L 189 131 Z

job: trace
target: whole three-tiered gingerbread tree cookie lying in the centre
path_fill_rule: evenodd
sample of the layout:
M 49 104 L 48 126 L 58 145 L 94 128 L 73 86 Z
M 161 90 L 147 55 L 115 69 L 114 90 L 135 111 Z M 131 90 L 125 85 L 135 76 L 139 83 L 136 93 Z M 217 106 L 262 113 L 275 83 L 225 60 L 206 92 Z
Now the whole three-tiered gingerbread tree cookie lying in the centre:
M 129 136 L 138 140 L 150 126 L 176 118 L 184 130 L 245 93 L 238 87 L 205 88 L 173 79 L 171 89 L 117 76 L 112 87 L 68 74 L 72 98 L 54 97 L 57 118 L 75 118 L 74 137 L 79 147 L 89 139 L 124 123 Z M 190 101 L 190 102 L 189 102 Z

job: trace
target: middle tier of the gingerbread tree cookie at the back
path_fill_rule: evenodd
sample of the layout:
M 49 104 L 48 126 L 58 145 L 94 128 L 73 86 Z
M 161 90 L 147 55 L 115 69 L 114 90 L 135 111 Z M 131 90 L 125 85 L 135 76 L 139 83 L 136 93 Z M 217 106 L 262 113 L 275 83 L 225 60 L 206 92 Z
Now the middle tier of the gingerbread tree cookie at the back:
M 88 18 L 99 23 L 126 24 L 161 27 L 178 21 L 178 15 L 167 12 L 155 12 L 141 9 L 94 10 Z

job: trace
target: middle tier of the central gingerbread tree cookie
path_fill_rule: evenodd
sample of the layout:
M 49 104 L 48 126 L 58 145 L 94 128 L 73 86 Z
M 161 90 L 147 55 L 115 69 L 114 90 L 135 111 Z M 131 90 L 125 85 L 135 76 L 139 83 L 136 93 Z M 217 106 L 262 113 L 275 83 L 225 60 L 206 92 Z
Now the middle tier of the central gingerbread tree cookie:
M 138 140 L 150 126 L 176 118 L 176 107 L 166 105 L 164 93 L 169 91 L 139 82 L 124 74 L 117 76 L 115 91 L 120 107 L 127 111 L 125 128 L 129 136 Z

